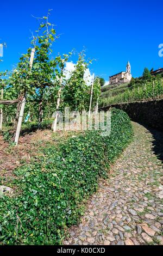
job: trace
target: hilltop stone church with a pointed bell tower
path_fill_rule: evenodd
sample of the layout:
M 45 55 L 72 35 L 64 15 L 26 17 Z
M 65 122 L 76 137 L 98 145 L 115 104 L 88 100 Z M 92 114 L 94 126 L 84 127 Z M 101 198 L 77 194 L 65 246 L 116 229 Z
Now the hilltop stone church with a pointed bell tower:
M 126 66 L 126 72 L 120 72 L 114 76 L 109 77 L 109 84 L 121 84 L 121 83 L 128 83 L 131 81 L 131 65 L 128 62 Z

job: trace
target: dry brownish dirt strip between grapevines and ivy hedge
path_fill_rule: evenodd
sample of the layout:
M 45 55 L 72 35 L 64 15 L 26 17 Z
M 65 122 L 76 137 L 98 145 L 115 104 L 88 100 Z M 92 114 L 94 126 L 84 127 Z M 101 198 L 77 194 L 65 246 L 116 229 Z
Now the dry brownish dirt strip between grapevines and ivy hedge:
M 51 144 L 57 145 L 75 135 L 74 133 L 76 134 L 76 132 L 53 133 L 50 130 L 38 130 L 20 137 L 16 147 L 4 142 L 3 136 L 0 135 L 0 177 L 14 177 L 14 169 L 29 163 L 32 157 L 41 155 L 41 148 Z

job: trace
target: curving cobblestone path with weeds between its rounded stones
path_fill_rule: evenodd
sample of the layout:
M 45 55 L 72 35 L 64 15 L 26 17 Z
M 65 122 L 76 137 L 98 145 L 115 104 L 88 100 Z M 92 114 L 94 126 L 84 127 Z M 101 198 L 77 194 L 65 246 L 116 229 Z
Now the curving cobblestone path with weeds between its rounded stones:
M 90 198 L 64 245 L 163 245 L 163 133 L 133 123 L 135 137 Z

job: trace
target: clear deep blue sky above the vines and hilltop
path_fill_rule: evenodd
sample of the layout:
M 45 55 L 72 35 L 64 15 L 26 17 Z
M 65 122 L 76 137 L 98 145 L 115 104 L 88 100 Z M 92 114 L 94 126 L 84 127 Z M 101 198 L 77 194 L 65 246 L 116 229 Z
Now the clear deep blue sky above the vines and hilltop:
M 86 47 L 86 56 L 96 59 L 91 72 L 108 80 L 110 75 L 126 70 L 128 60 L 134 77 L 143 68 L 163 67 L 159 44 L 163 44 L 163 1 L 1 1 L 0 43 L 6 42 L 0 71 L 11 70 L 30 46 L 30 30 L 41 17 L 53 9 L 51 22 L 57 25 L 60 38 L 54 43 L 54 53 L 67 53 Z M 76 57 L 72 57 L 75 60 Z

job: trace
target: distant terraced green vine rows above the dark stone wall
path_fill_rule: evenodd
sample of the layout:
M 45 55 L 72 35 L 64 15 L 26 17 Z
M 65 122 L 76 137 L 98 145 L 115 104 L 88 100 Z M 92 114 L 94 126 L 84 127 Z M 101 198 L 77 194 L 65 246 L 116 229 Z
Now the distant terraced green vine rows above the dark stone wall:
M 124 90 L 124 92 L 121 92 Z M 108 90 L 105 92 L 106 96 L 102 94 L 101 97 L 101 107 L 135 102 L 135 101 L 146 101 L 154 99 L 162 99 L 163 95 L 163 81 L 161 77 L 153 78 L 153 81 L 145 81 L 143 84 L 134 84 L 132 88 L 120 86 L 115 89 Z M 115 96 L 112 96 L 116 94 Z

